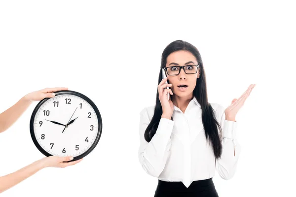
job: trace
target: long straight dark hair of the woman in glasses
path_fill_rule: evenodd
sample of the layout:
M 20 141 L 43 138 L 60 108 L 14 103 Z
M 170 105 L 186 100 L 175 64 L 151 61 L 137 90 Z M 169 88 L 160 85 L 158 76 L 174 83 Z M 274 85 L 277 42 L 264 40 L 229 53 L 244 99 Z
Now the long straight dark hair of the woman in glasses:
M 192 44 L 185 42 L 183 40 L 176 40 L 170 43 L 163 51 L 161 56 L 161 68 L 166 66 L 167 57 L 175 52 L 185 50 L 190 52 L 193 56 L 195 56 L 198 64 L 200 65 L 200 77 L 196 79 L 196 86 L 193 90 L 193 96 L 197 99 L 198 103 L 202 109 L 202 123 L 205 130 L 205 137 L 210 140 L 210 144 L 212 144 L 213 152 L 215 158 L 218 159 L 221 157 L 222 154 L 222 144 L 219 137 L 218 127 L 220 131 L 222 131 L 219 122 L 215 118 L 214 109 L 212 108 L 211 104 L 208 102 L 208 94 L 207 94 L 207 84 L 206 84 L 206 75 L 202 63 L 202 59 L 200 56 L 199 51 L 196 47 Z M 158 83 L 162 80 L 162 73 L 161 69 L 159 71 Z M 146 141 L 150 141 L 151 138 L 154 136 L 159 121 L 162 115 L 162 106 L 160 100 L 158 99 L 158 90 L 156 93 L 156 104 L 154 109 L 154 115 L 149 123 L 146 131 L 145 131 L 145 139 Z

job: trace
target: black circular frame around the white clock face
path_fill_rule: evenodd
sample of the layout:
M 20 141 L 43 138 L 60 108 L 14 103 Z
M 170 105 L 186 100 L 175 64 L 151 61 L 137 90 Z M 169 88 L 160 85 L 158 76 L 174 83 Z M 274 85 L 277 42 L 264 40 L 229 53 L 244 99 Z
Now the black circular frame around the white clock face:
M 102 135 L 102 126 L 103 126 L 102 125 L 101 113 L 100 113 L 99 109 L 97 108 L 97 106 L 95 105 L 95 103 L 91 99 L 89 99 L 88 97 L 86 97 L 85 95 L 83 95 L 81 93 L 78 93 L 78 92 L 75 92 L 75 91 L 72 91 L 72 90 L 62 90 L 62 91 L 55 92 L 55 94 L 56 94 L 55 96 L 58 96 L 58 95 L 74 95 L 74 96 L 80 97 L 81 99 L 84 99 L 86 102 L 88 102 L 92 106 L 92 108 L 94 109 L 94 111 L 95 111 L 95 113 L 97 115 L 97 118 L 98 118 L 98 134 L 97 134 L 97 137 L 96 137 L 94 143 L 91 145 L 91 147 L 87 151 L 85 151 L 84 153 L 82 153 L 81 155 L 79 155 L 77 157 L 74 157 L 74 159 L 70 161 L 70 162 L 73 162 L 73 161 L 79 160 L 79 159 L 84 158 L 85 156 L 87 156 L 90 152 L 92 152 L 94 150 L 94 148 L 97 146 L 98 142 L 100 141 L 100 138 L 101 138 L 101 135 Z M 35 146 L 37 147 L 37 149 L 43 155 L 45 155 L 46 157 L 50 157 L 52 155 L 49 154 L 47 151 L 45 151 L 40 146 L 40 144 L 38 143 L 38 141 L 36 139 L 36 136 L 35 136 L 35 133 L 34 133 L 34 119 L 35 119 L 35 116 L 36 116 L 36 113 L 37 113 L 38 109 L 48 99 L 51 99 L 51 98 L 45 98 L 45 99 L 42 99 L 42 100 L 40 100 L 38 102 L 38 104 L 36 105 L 34 111 L 32 112 L 31 120 L 30 120 L 30 133 L 31 133 L 32 140 L 33 140 Z

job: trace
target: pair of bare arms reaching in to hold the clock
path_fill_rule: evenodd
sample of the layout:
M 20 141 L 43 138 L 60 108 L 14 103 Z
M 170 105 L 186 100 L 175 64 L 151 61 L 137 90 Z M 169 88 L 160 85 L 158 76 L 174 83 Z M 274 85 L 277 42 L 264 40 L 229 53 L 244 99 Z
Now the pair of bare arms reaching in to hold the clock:
M 17 103 L 11 106 L 6 111 L 0 114 L 0 132 L 6 131 L 13 123 L 23 114 L 29 105 L 35 100 L 42 100 L 44 98 L 54 97 L 53 92 L 60 90 L 68 90 L 68 88 L 45 88 L 36 92 L 32 92 L 24 96 Z M 82 161 L 82 159 L 68 162 L 73 160 L 73 157 L 45 157 L 32 164 L 29 164 L 18 171 L 0 177 L 0 193 L 8 190 L 9 188 L 17 185 L 26 178 L 32 176 L 37 171 L 45 167 L 67 167 Z

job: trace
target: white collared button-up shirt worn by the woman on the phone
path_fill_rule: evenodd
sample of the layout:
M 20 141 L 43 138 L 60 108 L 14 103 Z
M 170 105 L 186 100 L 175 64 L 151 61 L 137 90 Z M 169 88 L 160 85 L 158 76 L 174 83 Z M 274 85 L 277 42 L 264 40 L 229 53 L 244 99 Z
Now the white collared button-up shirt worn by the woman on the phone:
M 161 118 L 149 143 L 144 133 L 155 106 L 145 107 L 140 112 L 139 160 L 149 175 L 162 181 L 182 181 L 186 187 L 193 181 L 213 177 L 215 169 L 223 179 L 233 177 L 241 149 L 235 136 L 237 122 L 225 120 L 221 105 L 211 105 L 222 128 L 222 133 L 219 133 L 222 157 L 217 161 L 212 146 L 206 141 L 201 106 L 195 97 L 185 113 L 174 105 L 173 120 Z

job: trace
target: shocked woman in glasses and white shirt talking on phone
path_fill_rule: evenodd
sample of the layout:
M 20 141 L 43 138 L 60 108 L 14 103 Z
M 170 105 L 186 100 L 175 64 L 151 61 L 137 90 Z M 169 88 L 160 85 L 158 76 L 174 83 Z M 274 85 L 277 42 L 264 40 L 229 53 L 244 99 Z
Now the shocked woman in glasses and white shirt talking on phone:
M 139 160 L 158 178 L 154 197 L 218 197 L 212 177 L 215 169 L 223 179 L 235 173 L 235 116 L 255 84 L 226 109 L 209 103 L 201 56 L 182 40 L 164 49 L 161 68 L 167 77 L 160 70 L 156 104 L 140 113 Z

